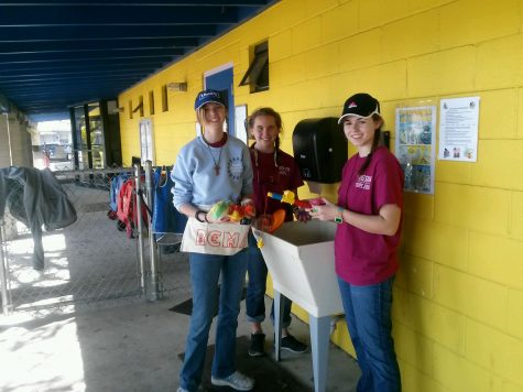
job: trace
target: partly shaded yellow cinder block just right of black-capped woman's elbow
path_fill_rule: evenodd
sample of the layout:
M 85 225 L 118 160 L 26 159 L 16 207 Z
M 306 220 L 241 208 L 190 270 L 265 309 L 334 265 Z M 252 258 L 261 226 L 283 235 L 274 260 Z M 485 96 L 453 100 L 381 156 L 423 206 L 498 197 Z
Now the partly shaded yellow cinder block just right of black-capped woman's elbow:
M 467 271 L 468 229 L 423 219 L 407 219 L 403 236 L 406 253 Z

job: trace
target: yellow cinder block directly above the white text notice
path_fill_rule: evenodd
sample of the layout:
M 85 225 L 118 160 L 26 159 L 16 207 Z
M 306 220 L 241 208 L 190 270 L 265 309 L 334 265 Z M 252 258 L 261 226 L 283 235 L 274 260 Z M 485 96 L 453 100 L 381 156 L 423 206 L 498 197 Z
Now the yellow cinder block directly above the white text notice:
M 462 46 L 408 59 L 411 96 L 458 94 L 475 88 L 476 48 Z

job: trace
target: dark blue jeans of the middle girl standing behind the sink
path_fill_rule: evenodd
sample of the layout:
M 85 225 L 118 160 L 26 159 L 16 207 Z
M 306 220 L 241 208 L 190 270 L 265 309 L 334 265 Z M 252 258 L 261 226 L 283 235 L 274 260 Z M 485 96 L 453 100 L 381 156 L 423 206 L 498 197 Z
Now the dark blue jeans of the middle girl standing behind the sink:
M 247 271 L 249 283 L 247 284 L 246 306 L 247 319 L 250 323 L 261 323 L 265 319 L 265 291 L 266 291 L 266 264 L 262 252 L 258 248 L 257 240 L 252 233 L 249 235 L 249 261 Z M 292 301 L 282 295 L 283 323 L 282 327 L 291 325 Z M 271 320 L 274 325 L 274 301 L 271 307 Z

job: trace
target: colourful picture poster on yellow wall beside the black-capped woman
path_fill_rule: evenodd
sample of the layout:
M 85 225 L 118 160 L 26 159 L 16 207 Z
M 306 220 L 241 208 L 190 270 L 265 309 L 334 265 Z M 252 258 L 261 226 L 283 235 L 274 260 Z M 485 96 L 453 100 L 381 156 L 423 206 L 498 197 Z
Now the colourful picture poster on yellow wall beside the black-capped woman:
M 436 107 L 396 108 L 396 157 L 406 192 L 434 194 Z

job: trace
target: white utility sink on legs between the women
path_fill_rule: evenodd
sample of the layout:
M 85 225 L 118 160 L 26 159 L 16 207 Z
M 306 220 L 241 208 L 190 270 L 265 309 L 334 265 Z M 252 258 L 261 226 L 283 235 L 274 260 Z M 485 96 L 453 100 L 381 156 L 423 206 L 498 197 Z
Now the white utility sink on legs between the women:
M 310 315 L 314 390 L 327 385 L 330 318 L 344 313 L 335 273 L 336 224 L 310 220 L 285 222 L 273 233 L 252 229 L 263 241 L 261 252 L 274 288 L 275 357 L 280 360 L 284 295 Z

